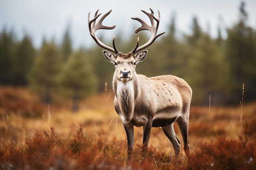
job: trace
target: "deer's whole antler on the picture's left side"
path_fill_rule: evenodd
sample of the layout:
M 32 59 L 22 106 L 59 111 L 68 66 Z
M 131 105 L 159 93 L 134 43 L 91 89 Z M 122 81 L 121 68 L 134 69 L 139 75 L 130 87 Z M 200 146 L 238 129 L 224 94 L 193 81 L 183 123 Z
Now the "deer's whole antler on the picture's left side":
M 105 44 L 103 44 L 95 35 L 95 32 L 99 29 L 114 29 L 116 26 L 105 26 L 102 25 L 102 21 L 111 13 L 112 10 L 108 11 L 107 13 L 105 13 L 101 19 L 96 23 L 97 18 L 99 18 L 99 16 L 101 15 L 101 13 L 98 14 L 99 9 L 95 12 L 94 14 L 94 18 L 92 18 L 92 20 L 90 19 L 90 12 L 88 13 L 88 26 L 89 26 L 89 31 L 90 31 L 90 35 L 92 36 L 92 38 L 94 39 L 94 41 L 101 46 L 102 48 L 108 50 L 108 51 L 112 51 L 113 53 L 118 54 L 119 51 L 117 50 L 116 46 L 115 46 L 115 36 L 113 38 L 113 48 L 111 48 L 110 46 L 107 46 Z

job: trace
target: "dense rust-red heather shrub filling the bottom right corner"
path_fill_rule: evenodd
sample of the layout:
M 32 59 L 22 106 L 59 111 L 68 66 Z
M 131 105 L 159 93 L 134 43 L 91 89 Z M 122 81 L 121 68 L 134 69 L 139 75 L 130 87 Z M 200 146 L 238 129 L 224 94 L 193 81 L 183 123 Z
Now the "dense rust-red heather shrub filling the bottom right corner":
M 247 139 L 201 143 L 198 151 L 188 158 L 189 170 L 249 170 L 256 167 L 256 143 Z

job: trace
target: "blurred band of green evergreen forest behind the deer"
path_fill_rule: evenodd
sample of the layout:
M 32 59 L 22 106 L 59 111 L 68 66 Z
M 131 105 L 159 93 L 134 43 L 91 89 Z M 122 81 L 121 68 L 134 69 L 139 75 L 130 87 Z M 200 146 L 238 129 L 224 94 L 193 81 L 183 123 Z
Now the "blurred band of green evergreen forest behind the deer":
M 243 91 L 244 101 L 256 100 L 256 28 L 247 23 L 245 3 L 238 10 L 236 22 L 225 28 L 225 33 L 219 26 L 216 38 L 202 30 L 197 17 L 191 20 L 191 34 L 177 36 L 176 18 L 170 17 L 168 30 L 147 48 L 148 55 L 136 72 L 147 77 L 171 74 L 185 79 L 193 90 L 193 105 L 209 105 L 210 95 L 211 104 L 238 104 Z M 148 40 L 146 33 L 117 35 L 121 51 L 131 51 L 137 36 L 140 44 Z M 110 88 L 115 68 L 104 58 L 103 49 L 94 44 L 74 49 L 67 28 L 61 43 L 43 38 L 36 48 L 29 34 L 19 40 L 15 30 L 2 28 L 0 85 L 29 87 L 46 104 L 60 97 L 77 103 L 103 93 L 106 82 Z M 77 107 L 74 104 L 73 109 Z

